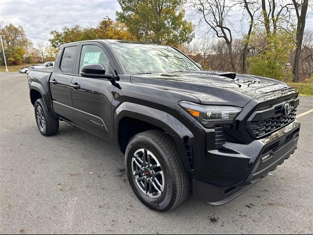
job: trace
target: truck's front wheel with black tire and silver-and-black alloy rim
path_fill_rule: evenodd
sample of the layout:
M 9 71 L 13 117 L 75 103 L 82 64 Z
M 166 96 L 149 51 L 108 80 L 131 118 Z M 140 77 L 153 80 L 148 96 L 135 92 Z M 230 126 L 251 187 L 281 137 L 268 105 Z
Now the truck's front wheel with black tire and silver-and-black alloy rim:
M 144 162 L 149 164 L 148 167 L 143 166 Z M 156 166 L 157 164 L 160 166 Z M 135 135 L 126 148 L 125 167 L 135 195 L 153 210 L 172 210 L 189 194 L 190 176 L 183 167 L 175 142 L 164 132 L 150 130 Z

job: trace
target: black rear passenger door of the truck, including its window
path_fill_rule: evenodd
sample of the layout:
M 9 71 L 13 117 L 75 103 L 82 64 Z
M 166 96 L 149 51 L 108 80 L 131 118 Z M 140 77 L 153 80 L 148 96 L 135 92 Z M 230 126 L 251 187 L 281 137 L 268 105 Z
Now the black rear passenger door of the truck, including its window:
M 62 49 L 57 68 L 53 70 L 49 81 L 53 110 L 69 122 L 74 121 L 70 84 L 76 68 L 77 51 L 78 45 Z

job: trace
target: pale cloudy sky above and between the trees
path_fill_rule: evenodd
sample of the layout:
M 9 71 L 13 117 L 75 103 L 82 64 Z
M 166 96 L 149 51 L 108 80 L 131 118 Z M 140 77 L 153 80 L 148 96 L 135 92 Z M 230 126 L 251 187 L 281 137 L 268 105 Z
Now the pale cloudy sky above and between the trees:
M 309 0 L 311 1 L 311 0 Z M 26 36 L 34 43 L 47 43 L 50 31 L 61 31 L 64 26 L 79 24 L 83 27 L 95 27 L 102 18 L 109 16 L 115 20 L 115 12 L 120 10 L 117 0 L 0 0 L 0 22 L 21 25 Z M 186 19 L 199 25 L 187 10 Z M 242 12 L 234 9 L 229 15 L 235 34 L 242 35 L 247 27 L 242 21 Z M 207 26 L 197 26 L 197 41 Z M 313 30 L 313 14 L 306 23 L 307 30 Z

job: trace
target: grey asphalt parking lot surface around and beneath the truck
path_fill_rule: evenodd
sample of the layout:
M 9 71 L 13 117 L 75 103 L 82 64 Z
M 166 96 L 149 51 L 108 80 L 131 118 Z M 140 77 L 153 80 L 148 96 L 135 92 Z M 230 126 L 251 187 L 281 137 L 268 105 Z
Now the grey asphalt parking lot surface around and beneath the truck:
M 313 234 L 313 113 L 291 158 L 239 198 L 190 195 L 159 213 L 135 197 L 114 144 L 65 122 L 40 134 L 26 77 L 0 73 L 0 234 Z M 311 109 L 301 97 L 298 114 Z

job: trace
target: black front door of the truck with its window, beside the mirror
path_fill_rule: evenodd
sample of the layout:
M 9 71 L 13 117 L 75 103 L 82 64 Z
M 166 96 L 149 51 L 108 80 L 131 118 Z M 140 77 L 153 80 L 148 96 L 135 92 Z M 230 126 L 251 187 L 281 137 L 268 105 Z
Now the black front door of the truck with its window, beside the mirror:
M 78 68 L 73 76 L 72 101 L 74 123 L 94 134 L 112 140 L 112 92 L 113 83 L 107 79 L 82 77 L 79 71 L 86 64 L 102 64 L 106 74 L 114 74 L 112 59 L 107 49 L 97 42 L 81 43 L 77 60 Z

